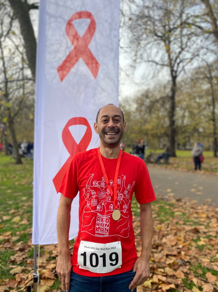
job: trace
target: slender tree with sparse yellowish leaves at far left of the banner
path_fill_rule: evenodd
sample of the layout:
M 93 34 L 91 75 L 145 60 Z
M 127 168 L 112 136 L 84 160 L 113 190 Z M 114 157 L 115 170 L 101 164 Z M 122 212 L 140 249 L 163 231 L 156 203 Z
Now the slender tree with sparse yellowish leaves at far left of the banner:
M 15 17 L 7 4 L 1 5 L 0 18 L 0 113 L 1 119 L 10 131 L 16 164 L 20 164 L 22 161 L 19 155 L 15 122 L 28 96 L 28 83 L 32 82 L 32 78 L 26 64 L 22 39 L 16 32 Z

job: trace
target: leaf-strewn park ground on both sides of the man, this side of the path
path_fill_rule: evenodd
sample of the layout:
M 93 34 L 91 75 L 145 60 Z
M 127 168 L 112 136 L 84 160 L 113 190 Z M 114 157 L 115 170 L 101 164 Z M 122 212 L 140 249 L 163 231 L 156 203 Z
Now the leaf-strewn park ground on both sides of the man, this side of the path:
M 1 157 L 2 158 L 2 157 Z M 33 290 L 32 161 L 0 163 L 0 292 Z M 160 197 L 152 203 L 154 236 L 150 278 L 139 292 L 218 291 L 218 208 Z M 139 207 L 132 201 L 135 244 L 140 255 Z M 73 241 L 69 243 L 70 250 Z M 39 290 L 61 291 L 57 245 L 40 246 Z

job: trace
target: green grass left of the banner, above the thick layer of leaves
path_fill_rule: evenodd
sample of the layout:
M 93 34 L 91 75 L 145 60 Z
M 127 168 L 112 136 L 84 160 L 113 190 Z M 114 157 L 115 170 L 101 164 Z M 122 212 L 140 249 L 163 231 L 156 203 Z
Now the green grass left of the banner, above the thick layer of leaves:
M 0 153 L 0 215 L 4 223 L 1 233 L 11 232 L 15 236 L 31 228 L 32 181 L 32 161 L 23 159 L 23 164 L 16 165 L 11 156 Z

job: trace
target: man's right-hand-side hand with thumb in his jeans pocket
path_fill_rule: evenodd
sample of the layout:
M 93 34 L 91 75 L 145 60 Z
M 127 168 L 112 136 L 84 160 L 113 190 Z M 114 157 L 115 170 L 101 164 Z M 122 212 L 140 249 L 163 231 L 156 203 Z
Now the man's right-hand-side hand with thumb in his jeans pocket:
M 133 281 L 129 285 L 129 289 L 133 292 L 134 289 L 143 284 L 144 281 L 146 281 L 150 276 L 150 263 L 149 259 L 147 257 L 143 257 L 142 255 L 137 258 L 134 267 L 133 272 L 136 271 L 135 277 L 133 278 Z

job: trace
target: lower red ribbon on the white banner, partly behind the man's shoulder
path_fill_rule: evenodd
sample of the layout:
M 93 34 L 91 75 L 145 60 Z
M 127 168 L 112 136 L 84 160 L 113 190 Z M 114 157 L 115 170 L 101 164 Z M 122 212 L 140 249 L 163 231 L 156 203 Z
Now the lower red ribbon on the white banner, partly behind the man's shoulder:
M 76 141 L 74 140 L 74 137 L 71 135 L 71 133 L 69 131 L 69 127 L 74 126 L 74 125 L 87 126 L 85 134 L 84 134 L 83 138 L 81 139 L 81 141 L 79 142 L 79 144 L 76 143 Z M 65 164 L 62 166 L 62 168 L 58 171 L 56 176 L 53 178 L 53 183 L 54 183 L 54 186 L 55 186 L 57 193 L 60 189 L 62 179 L 64 177 L 65 171 L 67 169 L 67 166 L 68 166 L 70 160 L 72 159 L 72 157 L 74 156 L 75 153 L 85 151 L 87 149 L 87 147 L 89 146 L 91 139 L 92 139 L 92 129 L 91 129 L 90 124 L 88 123 L 87 119 L 85 119 L 83 117 L 72 118 L 65 125 L 65 127 L 62 131 L 62 140 L 63 140 L 65 147 L 67 148 L 67 151 L 70 154 L 70 157 L 67 159 Z

